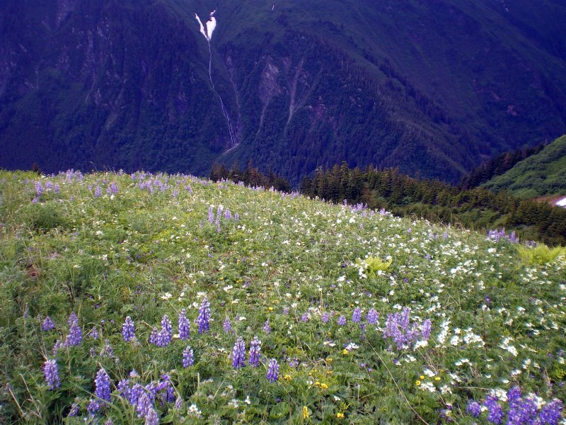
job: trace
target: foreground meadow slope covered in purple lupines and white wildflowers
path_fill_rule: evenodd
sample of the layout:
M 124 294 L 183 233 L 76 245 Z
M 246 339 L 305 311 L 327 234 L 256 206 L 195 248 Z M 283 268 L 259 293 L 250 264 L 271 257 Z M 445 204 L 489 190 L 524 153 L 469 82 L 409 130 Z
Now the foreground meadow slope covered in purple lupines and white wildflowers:
M 565 269 L 501 232 L 296 194 L 4 171 L 0 416 L 557 424 Z

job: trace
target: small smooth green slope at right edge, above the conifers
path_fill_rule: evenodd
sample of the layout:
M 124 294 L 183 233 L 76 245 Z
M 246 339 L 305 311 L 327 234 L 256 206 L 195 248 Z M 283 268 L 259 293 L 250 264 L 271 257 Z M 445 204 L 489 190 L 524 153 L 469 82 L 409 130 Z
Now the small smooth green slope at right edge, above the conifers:
M 524 159 L 482 186 L 521 198 L 566 195 L 566 136 L 558 138 L 538 154 Z

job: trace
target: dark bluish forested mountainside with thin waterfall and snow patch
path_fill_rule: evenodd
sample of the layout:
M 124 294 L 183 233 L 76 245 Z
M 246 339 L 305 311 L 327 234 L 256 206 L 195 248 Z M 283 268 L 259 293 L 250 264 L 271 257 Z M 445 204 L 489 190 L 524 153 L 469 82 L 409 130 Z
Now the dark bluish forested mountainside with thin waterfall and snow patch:
M 558 0 L 6 0 L 0 166 L 455 182 L 566 132 L 565 20 Z

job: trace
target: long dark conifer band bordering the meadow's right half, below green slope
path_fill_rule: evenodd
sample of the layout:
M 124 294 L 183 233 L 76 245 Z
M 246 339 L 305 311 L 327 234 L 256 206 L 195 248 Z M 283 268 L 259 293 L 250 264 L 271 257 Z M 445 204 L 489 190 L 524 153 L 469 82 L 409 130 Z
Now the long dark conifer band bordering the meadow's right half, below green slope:
M 312 179 L 301 182 L 301 192 L 333 203 L 362 203 L 471 229 L 516 229 L 524 239 L 566 244 L 564 208 L 484 188 L 462 190 L 437 180 L 413 179 L 395 169 L 380 171 L 370 166 L 362 171 L 347 164 L 319 169 Z

